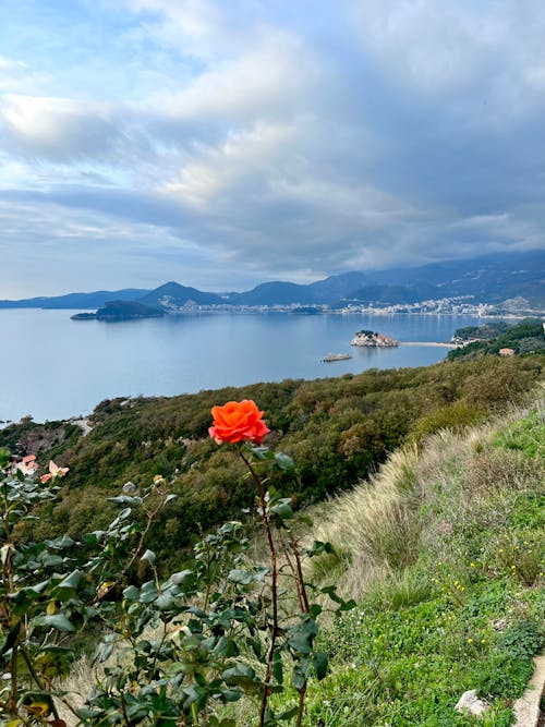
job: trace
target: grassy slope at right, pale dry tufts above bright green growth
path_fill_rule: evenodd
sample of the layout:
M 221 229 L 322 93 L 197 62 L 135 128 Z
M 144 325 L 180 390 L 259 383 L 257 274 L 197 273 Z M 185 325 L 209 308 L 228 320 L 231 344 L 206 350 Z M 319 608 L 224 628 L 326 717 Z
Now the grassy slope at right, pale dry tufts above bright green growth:
M 328 507 L 313 535 L 340 557 L 323 568 L 359 607 L 324 637 L 332 670 L 308 727 L 469 725 L 453 711 L 469 689 L 491 704 L 479 724 L 511 724 L 544 644 L 544 482 L 542 397 L 510 424 L 398 451 Z

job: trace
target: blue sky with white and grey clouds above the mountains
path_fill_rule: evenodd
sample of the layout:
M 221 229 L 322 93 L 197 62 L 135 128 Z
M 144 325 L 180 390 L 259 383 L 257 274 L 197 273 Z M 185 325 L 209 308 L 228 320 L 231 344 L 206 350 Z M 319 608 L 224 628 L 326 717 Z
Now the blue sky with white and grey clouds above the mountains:
M 545 3 L 2 0 L 0 299 L 544 246 Z

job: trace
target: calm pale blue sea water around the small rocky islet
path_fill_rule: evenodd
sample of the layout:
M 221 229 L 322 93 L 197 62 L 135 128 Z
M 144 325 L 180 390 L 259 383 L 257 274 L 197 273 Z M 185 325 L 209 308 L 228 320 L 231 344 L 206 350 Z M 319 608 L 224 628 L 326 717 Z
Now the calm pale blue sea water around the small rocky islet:
M 362 329 L 399 341 L 448 341 L 471 316 L 194 314 L 75 322 L 71 311 L 0 311 L 0 420 L 68 419 L 102 399 L 160 396 L 366 368 L 425 366 L 447 349 L 351 348 Z M 352 359 L 322 363 L 327 353 Z

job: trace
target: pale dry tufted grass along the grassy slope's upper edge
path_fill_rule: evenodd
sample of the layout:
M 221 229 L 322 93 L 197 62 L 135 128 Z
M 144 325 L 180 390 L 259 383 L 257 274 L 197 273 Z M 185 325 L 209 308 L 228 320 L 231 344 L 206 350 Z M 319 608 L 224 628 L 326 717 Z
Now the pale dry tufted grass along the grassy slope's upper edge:
M 543 402 L 541 391 L 532 409 L 543 410 Z M 463 433 L 438 432 L 420 451 L 393 452 L 368 482 L 328 502 L 310 536 L 330 542 L 337 555 L 312 564 L 311 578 L 334 573 L 339 593 L 358 599 L 401 573 L 423 547 L 448 559 L 450 532 L 505 524 L 513 497 L 545 480 L 538 458 L 493 447 L 498 429 L 525 413 L 513 408 Z

